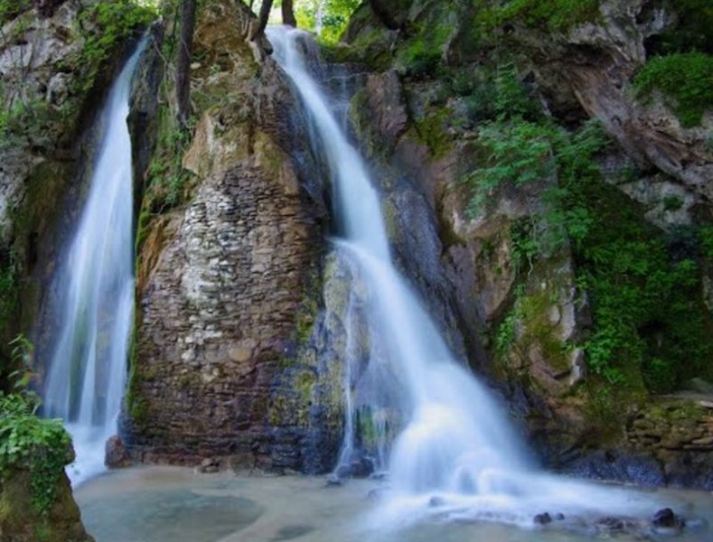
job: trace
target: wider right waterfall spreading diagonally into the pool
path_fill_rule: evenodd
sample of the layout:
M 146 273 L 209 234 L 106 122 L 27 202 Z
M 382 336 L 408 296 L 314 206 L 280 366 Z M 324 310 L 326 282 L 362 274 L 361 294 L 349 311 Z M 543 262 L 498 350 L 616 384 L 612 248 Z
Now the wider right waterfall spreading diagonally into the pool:
M 366 290 L 363 312 L 371 351 L 361 383 L 351 365 L 345 371 L 350 434 L 341 461 L 354 446 L 351 432 L 359 431 L 354 409 L 398 411 L 391 417 L 392 425 L 400 425 L 399 435 L 390 445 L 387 464 L 378 465 L 389 471 L 389 497 L 375 512 L 374 525 L 401 525 L 428 515 L 531 525 L 533 516 L 544 511 L 585 519 L 651 514 L 656 504 L 642 494 L 537 470 L 504 408 L 454 359 L 423 304 L 396 271 L 368 168 L 308 72 L 302 51 L 309 37 L 285 27 L 270 28 L 267 35 L 305 106 L 317 152 L 329 165 L 333 211 L 342 225 L 335 250 L 356 269 L 352 275 Z M 347 326 L 349 321 L 345 318 Z M 373 433 L 373 420 L 371 425 Z

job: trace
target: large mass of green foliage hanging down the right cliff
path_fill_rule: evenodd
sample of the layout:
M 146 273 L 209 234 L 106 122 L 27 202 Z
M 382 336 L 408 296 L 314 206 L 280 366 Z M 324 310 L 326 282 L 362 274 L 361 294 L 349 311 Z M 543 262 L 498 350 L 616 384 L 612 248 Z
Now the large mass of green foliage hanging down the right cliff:
M 557 181 L 544 192 L 545 210 L 511 229 L 513 259 L 532 268 L 537 258 L 569 243 L 579 289 L 589 295 L 593 312 L 582 344 L 590 369 L 609 385 L 645 385 L 655 392 L 708 376 L 713 341 L 698 301 L 695 255 L 671 257 L 643 212 L 600 178 L 595 157 L 605 145 L 601 126 L 590 122 L 569 133 L 545 118 L 525 120 L 522 109 L 507 106 L 512 99 L 506 96 L 495 101 L 498 118 L 478 131 L 484 162 L 464 179 L 473 190 L 469 211 L 481 213 L 503 183 Z M 671 210 L 680 201 L 668 205 Z M 699 238 L 709 254 L 710 230 L 699 229 Z M 535 311 L 525 318 L 526 328 L 535 330 L 530 321 L 536 320 Z M 502 322 L 498 350 L 511 341 L 511 326 L 510 318 Z

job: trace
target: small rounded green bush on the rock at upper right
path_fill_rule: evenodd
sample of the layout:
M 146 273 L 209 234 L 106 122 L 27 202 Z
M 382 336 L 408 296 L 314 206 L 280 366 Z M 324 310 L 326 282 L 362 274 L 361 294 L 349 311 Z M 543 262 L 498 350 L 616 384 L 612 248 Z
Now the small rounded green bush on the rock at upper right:
M 653 57 L 632 82 L 641 98 L 651 98 L 654 90 L 659 90 L 681 126 L 697 126 L 713 104 L 713 56 L 683 52 Z

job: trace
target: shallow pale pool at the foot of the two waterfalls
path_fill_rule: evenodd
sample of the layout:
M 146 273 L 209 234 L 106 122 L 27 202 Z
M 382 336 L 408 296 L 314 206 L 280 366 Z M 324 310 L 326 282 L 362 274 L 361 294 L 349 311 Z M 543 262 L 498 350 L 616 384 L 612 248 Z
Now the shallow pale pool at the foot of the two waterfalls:
M 679 536 L 596 533 L 569 520 L 518 528 L 465 515 L 434 514 L 416 524 L 376 528 L 383 503 L 378 481 L 325 487 L 323 478 L 198 474 L 174 467 L 109 472 L 75 491 L 97 542 L 584 542 L 713 540 L 713 495 L 702 491 L 631 491 L 692 519 Z M 544 510 L 543 510 L 544 511 Z M 651 514 L 655 512 L 652 509 Z M 698 524 L 698 527 L 696 526 Z M 577 528 L 577 532 L 566 529 Z

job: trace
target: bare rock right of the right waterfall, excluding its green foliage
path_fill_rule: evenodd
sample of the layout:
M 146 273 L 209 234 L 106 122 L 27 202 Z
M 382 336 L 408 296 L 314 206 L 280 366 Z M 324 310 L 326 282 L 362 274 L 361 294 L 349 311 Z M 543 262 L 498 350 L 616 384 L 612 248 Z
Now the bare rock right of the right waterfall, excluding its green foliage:
M 362 148 L 382 168 L 385 215 L 401 267 L 455 336 L 455 351 L 464 345 L 471 365 L 500 383 L 513 415 L 552 467 L 651 485 L 713 487 L 705 399 L 613 399 L 593 391 L 598 377 L 583 348 L 594 326 L 593 305 L 574 249 L 564 243 L 533 257 L 522 246 L 523 239 L 551 233 L 541 217 L 558 179 L 502 182 L 477 217 L 467 210 L 473 192 L 463 182 L 488 161 L 478 128 L 494 113 L 485 91 L 473 89 L 487 89 L 488 62 L 500 56 L 521 63 L 524 85 L 550 118 L 563 124 L 602 119 L 617 145 L 598 158 L 599 169 L 623 192 L 621 200 L 642 203 L 632 212 L 671 236 L 698 227 L 701 217 L 710 220 L 709 113 L 701 127 L 684 128 L 660 101 L 640 103 L 627 89 L 646 60 L 645 42 L 671 14 L 640 0 L 604 1 L 595 22 L 568 31 L 544 33 L 514 20 L 496 31 L 508 48 L 503 52 L 497 42 L 474 36 L 468 24 L 476 14 L 465 3 L 448 13 L 424 2 L 405 4 L 406 31 L 398 36 L 362 6 L 346 34 L 354 51 L 340 51 L 368 65 L 365 51 L 379 59 L 388 51 L 392 59 L 368 76 L 352 100 L 351 117 Z M 454 17 L 469 23 L 458 25 Z M 446 22 L 453 30 L 440 41 L 436 33 L 419 33 Z M 508 56 L 511 50 L 515 56 Z M 447 75 L 422 70 L 428 62 Z M 459 89 L 464 80 L 473 85 L 465 91 Z M 467 102 L 466 94 L 478 101 Z M 643 173 L 624 179 L 622 172 L 637 168 Z M 709 269 L 701 261 L 705 303 Z M 600 408 L 611 401 L 619 403 L 607 424 L 602 416 L 610 415 Z

